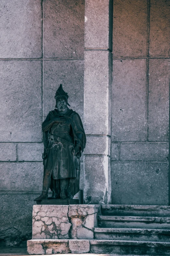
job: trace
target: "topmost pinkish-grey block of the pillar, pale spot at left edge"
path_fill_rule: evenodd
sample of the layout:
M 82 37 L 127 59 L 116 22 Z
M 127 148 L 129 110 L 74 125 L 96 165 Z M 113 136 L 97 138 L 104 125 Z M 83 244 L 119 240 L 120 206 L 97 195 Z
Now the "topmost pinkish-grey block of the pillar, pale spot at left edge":
M 112 49 L 109 25 L 109 0 L 85 1 L 85 48 Z

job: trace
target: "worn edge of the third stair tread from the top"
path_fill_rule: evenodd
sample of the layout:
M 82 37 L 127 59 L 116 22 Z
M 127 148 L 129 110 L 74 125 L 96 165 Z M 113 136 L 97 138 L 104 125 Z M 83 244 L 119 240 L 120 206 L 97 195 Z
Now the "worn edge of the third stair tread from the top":
M 136 228 L 94 228 L 96 233 L 137 233 L 137 234 L 167 234 L 168 229 L 136 229 Z

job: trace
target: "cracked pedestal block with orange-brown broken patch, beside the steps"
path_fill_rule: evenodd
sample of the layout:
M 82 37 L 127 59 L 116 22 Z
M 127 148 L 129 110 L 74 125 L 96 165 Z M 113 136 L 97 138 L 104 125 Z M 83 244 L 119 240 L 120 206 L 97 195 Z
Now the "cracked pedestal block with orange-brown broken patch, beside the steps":
M 68 217 L 72 225 L 70 238 L 93 239 L 98 212 L 100 212 L 99 205 L 70 205 L 68 211 Z

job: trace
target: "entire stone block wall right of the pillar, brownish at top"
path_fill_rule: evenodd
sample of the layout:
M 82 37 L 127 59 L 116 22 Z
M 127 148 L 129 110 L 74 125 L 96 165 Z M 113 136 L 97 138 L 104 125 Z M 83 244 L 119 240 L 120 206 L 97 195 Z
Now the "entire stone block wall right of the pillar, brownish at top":
M 112 204 L 168 205 L 169 12 L 113 2 Z

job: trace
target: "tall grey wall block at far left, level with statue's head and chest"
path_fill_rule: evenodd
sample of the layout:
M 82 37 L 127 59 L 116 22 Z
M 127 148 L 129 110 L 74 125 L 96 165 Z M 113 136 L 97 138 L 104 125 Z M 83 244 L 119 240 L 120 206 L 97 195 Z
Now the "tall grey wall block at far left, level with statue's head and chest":
M 0 61 L 1 142 L 41 142 L 41 61 Z

